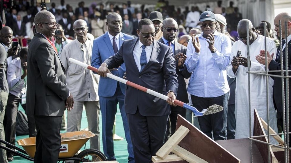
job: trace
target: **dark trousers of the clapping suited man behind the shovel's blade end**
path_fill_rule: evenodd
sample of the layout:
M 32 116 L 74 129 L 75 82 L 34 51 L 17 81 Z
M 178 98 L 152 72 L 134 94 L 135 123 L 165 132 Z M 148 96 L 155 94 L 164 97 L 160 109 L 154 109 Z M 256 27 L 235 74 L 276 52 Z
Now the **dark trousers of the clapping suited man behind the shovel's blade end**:
M 171 106 L 171 114 L 167 123 L 167 131 L 165 136 L 165 141 L 168 140 L 168 136 L 172 136 L 176 131 L 176 123 L 178 114 L 186 118 L 186 109 L 180 106 Z

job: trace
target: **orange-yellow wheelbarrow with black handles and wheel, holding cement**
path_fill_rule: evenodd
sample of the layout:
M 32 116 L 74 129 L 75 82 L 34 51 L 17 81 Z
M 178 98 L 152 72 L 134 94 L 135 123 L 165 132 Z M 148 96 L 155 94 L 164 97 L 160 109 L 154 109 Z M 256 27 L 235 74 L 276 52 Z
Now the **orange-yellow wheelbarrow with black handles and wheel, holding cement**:
M 91 131 L 75 131 L 75 132 L 66 132 L 61 133 L 61 146 L 60 146 L 60 154 L 58 161 L 68 161 L 74 160 L 74 163 L 79 162 L 91 162 L 91 161 L 107 161 L 106 156 L 97 149 L 86 148 L 86 142 L 95 136 Z M 22 158 L 25 158 L 30 161 L 34 161 L 34 154 L 36 152 L 36 137 L 25 138 L 17 140 L 17 144 L 22 146 L 24 150 L 16 147 L 4 140 L 0 139 L 0 142 L 5 144 L 7 147 L 0 145 L 0 148 L 5 149 L 13 153 L 14 155 L 18 155 Z M 80 148 L 85 145 L 85 149 L 81 151 L 78 155 L 76 153 L 80 150 Z M 14 151 L 10 148 L 16 149 Z M 23 153 L 23 154 L 22 154 Z M 27 156 L 28 155 L 28 156 Z

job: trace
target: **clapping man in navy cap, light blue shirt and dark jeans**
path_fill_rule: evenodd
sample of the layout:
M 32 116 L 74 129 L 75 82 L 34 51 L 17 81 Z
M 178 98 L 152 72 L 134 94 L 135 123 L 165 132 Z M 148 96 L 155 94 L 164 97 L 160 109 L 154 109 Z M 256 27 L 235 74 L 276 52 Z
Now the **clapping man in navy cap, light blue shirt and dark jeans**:
M 214 140 L 226 139 L 226 114 L 229 86 L 226 66 L 231 52 L 231 41 L 225 34 L 215 30 L 216 19 L 211 11 L 200 15 L 202 33 L 192 35 L 187 46 L 185 65 L 193 72 L 187 91 L 194 107 L 199 111 L 213 104 L 223 106 L 223 111 L 198 117 L 200 129 Z

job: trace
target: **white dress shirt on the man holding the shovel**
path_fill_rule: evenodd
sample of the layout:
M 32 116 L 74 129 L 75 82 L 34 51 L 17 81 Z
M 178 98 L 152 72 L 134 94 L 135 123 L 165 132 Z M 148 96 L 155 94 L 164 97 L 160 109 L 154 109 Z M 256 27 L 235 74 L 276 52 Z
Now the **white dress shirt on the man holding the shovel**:
M 133 50 L 133 57 L 134 57 L 136 66 L 139 68 L 139 72 L 140 72 L 140 55 L 142 54 L 142 45 L 143 44 L 139 40 L 136 43 Z M 149 63 L 149 59 L 152 54 L 152 44 L 150 46 L 145 47 L 145 53 L 146 53 L 146 63 Z

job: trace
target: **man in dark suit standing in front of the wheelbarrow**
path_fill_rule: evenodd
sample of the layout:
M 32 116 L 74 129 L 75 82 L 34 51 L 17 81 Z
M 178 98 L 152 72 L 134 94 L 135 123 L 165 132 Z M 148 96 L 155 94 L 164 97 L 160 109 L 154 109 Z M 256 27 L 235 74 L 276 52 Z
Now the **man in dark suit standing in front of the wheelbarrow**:
M 34 22 L 37 33 L 28 50 L 26 114 L 33 115 L 36 122 L 34 162 L 56 163 L 62 116 L 65 107 L 72 109 L 74 100 L 66 86 L 65 69 L 50 41 L 58 25 L 55 17 L 50 11 L 39 11 Z

